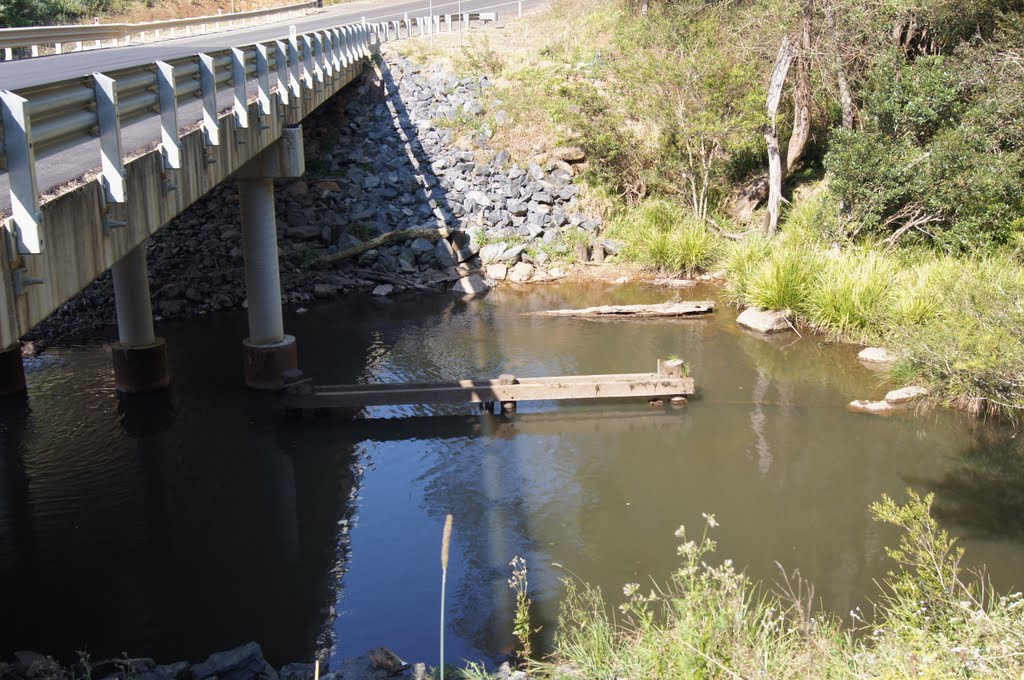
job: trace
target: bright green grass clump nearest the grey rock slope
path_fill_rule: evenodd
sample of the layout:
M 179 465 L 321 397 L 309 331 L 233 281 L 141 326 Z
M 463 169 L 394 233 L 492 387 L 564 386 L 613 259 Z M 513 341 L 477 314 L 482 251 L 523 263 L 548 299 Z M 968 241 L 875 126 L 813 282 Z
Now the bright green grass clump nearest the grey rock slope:
M 663 271 L 692 275 L 710 267 L 718 256 L 718 237 L 668 201 L 646 201 L 627 211 L 612 225 L 611 235 L 628 244 L 628 258 Z

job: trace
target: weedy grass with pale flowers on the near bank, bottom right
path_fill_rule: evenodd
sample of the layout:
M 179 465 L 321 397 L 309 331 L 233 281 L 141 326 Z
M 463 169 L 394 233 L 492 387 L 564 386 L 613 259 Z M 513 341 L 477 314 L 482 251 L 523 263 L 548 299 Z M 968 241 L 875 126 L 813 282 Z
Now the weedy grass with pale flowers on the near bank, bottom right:
M 931 516 L 932 496 L 872 504 L 901 534 L 895 567 L 850 627 L 815 611 L 813 588 L 784 576 L 766 591 L 716 563 L 705 515 L 676 533 L 680 566 L 665 584 L 627 584 L 621 617 L 601 592 L 567 580 L 552 662 L 540 678 L 1020 678 L 1024 598 L 999 596 L 961 567 L 964 551 Z M 870 619 L 870 620 L 869 620 Z

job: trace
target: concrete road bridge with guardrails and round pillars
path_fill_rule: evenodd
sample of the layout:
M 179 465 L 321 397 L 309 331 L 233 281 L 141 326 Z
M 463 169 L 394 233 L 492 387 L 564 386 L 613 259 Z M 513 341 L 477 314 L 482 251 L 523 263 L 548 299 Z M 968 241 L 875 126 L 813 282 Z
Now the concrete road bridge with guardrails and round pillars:
M 0 395 L 26 389 L 19 338 L 108 269 L 117 388 L 166 387 L 144 242 L 229 177 L 241 207 L 246 384 L 283 385 L 298 359 L 283 324 L 273 179 L 304 172 L 303 119 L 382 43 L 497 17 L 485 0 L 396 3 L 369 18 L 379 4 L 316 4 L 0 30 Z M 521 14 L 521 0 L 504 4 Z

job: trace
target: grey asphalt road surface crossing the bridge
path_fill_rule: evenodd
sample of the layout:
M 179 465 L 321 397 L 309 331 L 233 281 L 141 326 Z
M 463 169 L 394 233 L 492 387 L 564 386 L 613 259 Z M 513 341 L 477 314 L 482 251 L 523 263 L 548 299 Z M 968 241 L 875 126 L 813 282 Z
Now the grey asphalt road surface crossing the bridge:
M 462 11 L 477 11 L 493 7 L 501 2 L 502 0 L 462 0 L 461 9 Z M 543 2 L 544 0 L 523 0 L 523 8 L 535 7 Z M 411 16 L 424 15 L 428 13 L 429 7 L 430 4 L 424 0 L 398 0 L 395 2 L 356 0 L 343 5 L 333 5 L 304 17 L 279 24 L 265 24 L 254 28 L 128 47 L 110 47 L 69 54 L 0 61 L 0 89 L 17 91 L 46 83 L 87 76 L 95 72 L 113 72 L 156 60 L 188 56 L 197 52 L 271 41 L 288 36 L 292 26 L 301 34 L 358 22 L 361 17 L 366 17 L 368 22 L 379 22 L 401 18 L 406 12 L 409 12 Z M 433 2 L 435 14 L 456 13 L 459 4 L 451 0 Z M 497 11 L 499 17 L 502 18 L 514 16 L 516 9 L 516 4 L 511 3 L 504 7 L 498 7 L 494 11 Z M 274 81 L 275 75 L 271 74 L 271 85 L 275 84 Z M 255 94 L 255 84 L 252 84 L 250 89 L 250 94 Z M 231 103 L 230 90 L 220 90 L 217 103 L 221 111 L 229 108 Z M 202 105 L 200 102 L 188 102 L 179 107 L 178 122 L 182 128 L 201 118 Z M 159 137 L 159 118 L 152 116 L 123 128 L 122 146 L 126 155 L 131 155 L 133 152 L 156 143 Z M 98 170 L 98 168 L 99 142 L 96 139 L 57 150 L 44 158 L 37 158 L 36 178 L 39 190 L 41 194 L 46 194 L 54 187 Z M 0 174 L 0 215 L 6 214 L 10 214 L 10 193 L 7 174 L 4 172 Z

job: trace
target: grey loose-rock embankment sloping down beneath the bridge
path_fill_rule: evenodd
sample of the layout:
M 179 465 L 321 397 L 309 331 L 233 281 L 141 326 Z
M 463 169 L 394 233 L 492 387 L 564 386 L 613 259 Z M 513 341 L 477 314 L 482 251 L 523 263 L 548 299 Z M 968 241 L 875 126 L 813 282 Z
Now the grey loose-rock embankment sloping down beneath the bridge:
M 486 77 L 460 78 L 392 55 L 306 121 L 308 171 L 276 184 L 284 304 L 301 308 L 345 294 L 477 295 L 502 281 L 560 279 L 569 262 L 589 257 L 589 246 L 596 257 L 616 252 L 601 239 L 601 220 L 580 208 L 572 182 L 585 163 L 580 150 L 514 160 L 490 147 L 481 101 L 489 86 Z M 503 112 L 493 113 L 488 119 L 500 124 Z M 457 129 L 474 132 L 457 138 Z M 411 228 L 436 236 L 364 246 Z M 158 323 L 246 306 L 233 182 L 145 248 Z M 324 261 L 353 249 L 362 252 Z M 108 272 L 28 337 L 111 335 L 114 324 Z

